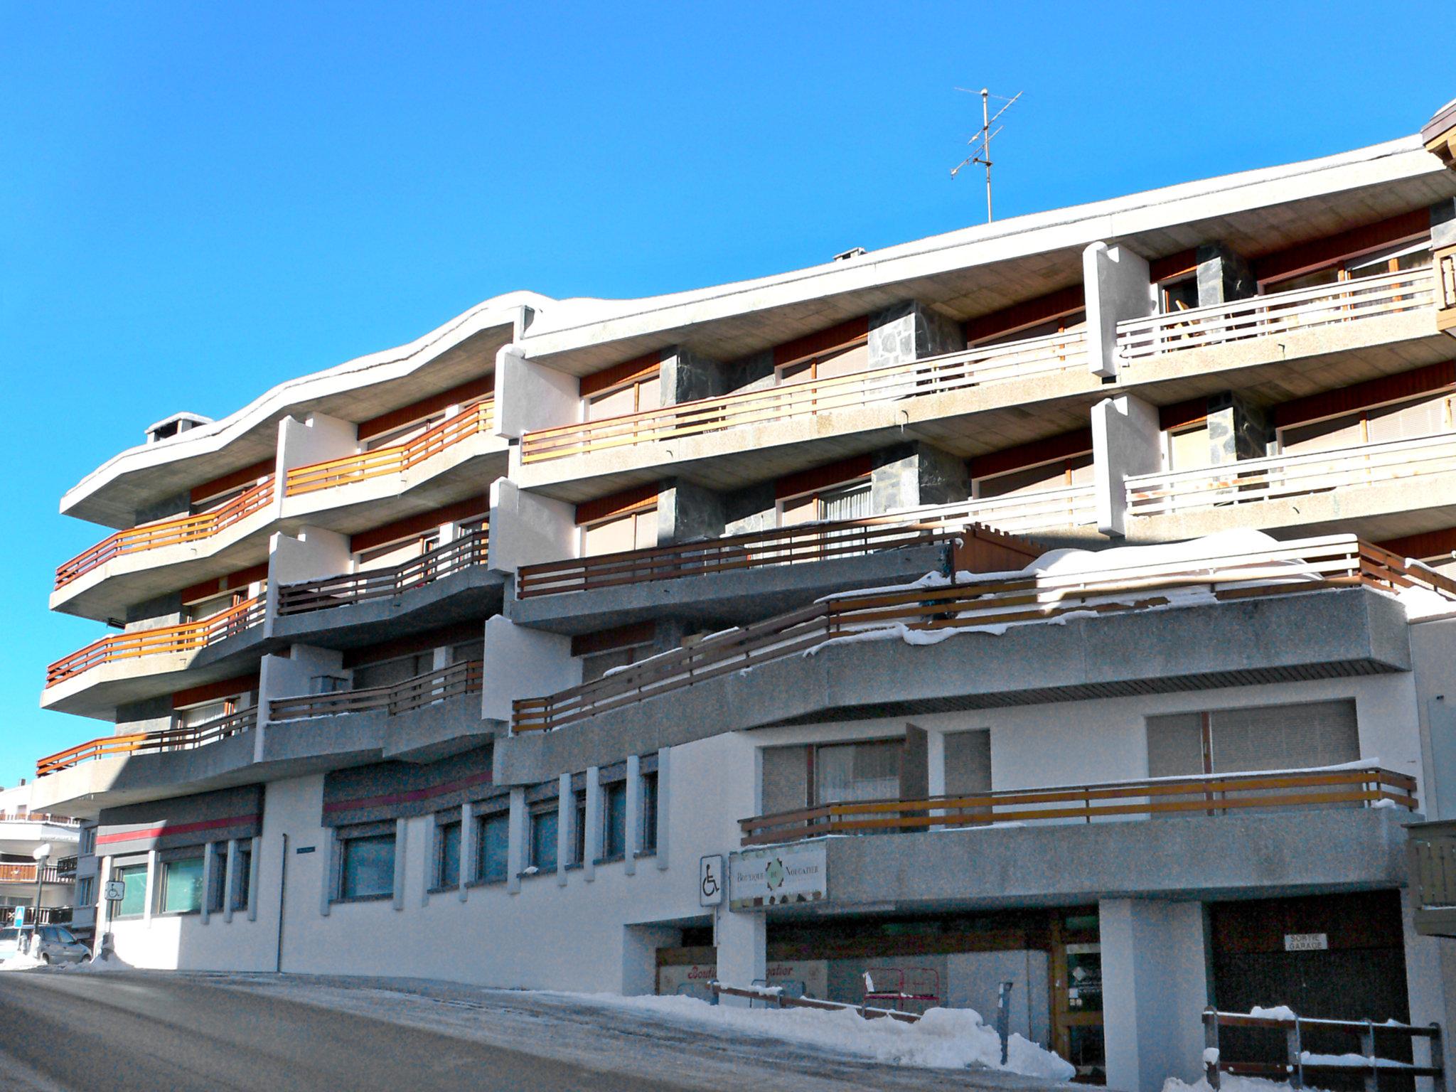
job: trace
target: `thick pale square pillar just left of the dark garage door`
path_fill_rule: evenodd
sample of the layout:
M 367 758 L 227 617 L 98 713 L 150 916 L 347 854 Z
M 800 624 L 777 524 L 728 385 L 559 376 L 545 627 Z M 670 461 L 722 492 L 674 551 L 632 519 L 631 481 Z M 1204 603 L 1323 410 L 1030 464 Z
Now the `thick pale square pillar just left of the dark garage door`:
M 1208 1005 L 1203 904 L 1104 898 L 1098 923 L 1108 1088 L 1159 1092 L 1168 1077 L 1197 1082 Z

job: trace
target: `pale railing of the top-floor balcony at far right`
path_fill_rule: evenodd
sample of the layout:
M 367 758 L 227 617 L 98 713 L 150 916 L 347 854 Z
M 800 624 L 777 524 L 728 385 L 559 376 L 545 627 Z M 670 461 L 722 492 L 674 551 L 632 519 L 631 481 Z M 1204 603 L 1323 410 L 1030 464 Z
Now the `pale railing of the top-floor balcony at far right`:
M 1123 360 L 1134 361 L 1230 341 L 1377 319 L 1430 307 L 1434 287 L 1431 268 L 1424 266 L 1147 319 L 1128 319 L 1117 323 L 1117 349 Z

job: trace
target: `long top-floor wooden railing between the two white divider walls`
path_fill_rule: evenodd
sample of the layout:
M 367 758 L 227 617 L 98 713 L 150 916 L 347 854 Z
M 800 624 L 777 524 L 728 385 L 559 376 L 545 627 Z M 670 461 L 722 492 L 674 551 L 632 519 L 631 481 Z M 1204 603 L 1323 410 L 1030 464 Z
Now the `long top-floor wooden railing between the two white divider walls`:
M 521 462 L 539 463 L 610 447 L 812 416 L 831 409 L 941 395 L 1000 380 L 1086 368 L 1086 363 L 1085 331 L 986 345 L 853 376 L 789 383 L 740 395 L 680 402 L 641 414 L 542 428 L 521 437 Z

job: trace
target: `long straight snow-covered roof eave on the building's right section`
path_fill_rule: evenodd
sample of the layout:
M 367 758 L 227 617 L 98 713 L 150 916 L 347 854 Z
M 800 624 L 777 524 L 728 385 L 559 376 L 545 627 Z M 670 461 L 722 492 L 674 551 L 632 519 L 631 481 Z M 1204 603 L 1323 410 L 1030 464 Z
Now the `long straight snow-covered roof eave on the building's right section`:
M 1420 137 L 1324 159 L 1187 182 L 1013 217 L 846 261 L 642 300 L 568 300 L 520 342 L 582 376 L 686 345 L 735 360 L 906 298 L 954 319 L 987 314 L 1082 280 L 1082 250 L 1125 243 L 1162 258 L 1210 240 L 1257 258 L 1456 195 Z

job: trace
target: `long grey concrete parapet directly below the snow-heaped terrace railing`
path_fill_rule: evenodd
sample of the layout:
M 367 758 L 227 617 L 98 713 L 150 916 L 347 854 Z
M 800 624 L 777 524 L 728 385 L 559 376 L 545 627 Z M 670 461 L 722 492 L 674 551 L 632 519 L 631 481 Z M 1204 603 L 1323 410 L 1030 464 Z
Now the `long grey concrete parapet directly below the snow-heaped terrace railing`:
M 853 638 L 513 737 L 496 751 L 496 775 L 545 780 L 622 754 L 772 725 L 1409 670 L 1405 609 L 1366 588 L 1028 623 L 926 646 Z

